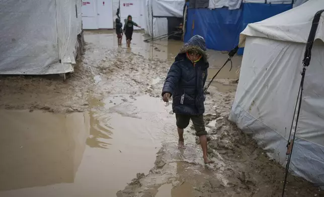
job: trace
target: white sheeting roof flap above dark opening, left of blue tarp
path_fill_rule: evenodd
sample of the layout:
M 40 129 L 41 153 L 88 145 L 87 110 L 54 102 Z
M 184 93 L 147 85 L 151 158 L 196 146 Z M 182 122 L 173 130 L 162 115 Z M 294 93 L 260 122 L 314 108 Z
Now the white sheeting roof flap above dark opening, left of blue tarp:
M 185 1 L 175 0 L 152 0 L 154 17 L 180 17 L 183 16 Z

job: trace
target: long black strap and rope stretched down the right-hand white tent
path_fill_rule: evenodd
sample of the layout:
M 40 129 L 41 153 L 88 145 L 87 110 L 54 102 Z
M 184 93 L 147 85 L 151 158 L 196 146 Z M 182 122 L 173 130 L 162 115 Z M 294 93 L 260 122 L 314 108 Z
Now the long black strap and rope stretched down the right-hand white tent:
M 323 12 L 324 12 L 324 10 L 320 10 L 314 16 L 314 19 L 313 19 L 312 25 L 311 25 L 311 29 L 310 29 L 310 32 L 309 32 L 307 44 L 306 44 L 306 50 L 305 50 L 305 54 L 304 54 L 304 59 L 302 61 L 303 70 L 301 72 L 301 81 L 300 81 L 299 91 L 298 91 L 298 95 L 297 95 L 297 101 L 296 101 L 294 116 L 292 118 L 288 143 L 287 143 L 287 152 L 286 152 L 286 154 L 288 155 L 288 160 L 287 160 L 286 170 L 285 170 L 285 179 L 284 179 L 284 183 L 283 183 L 282 197 L 284 197 L 284 194 L 285 194 L 285 188 L 286 188 L 286 184 L 287 184 L 287 178 L 288 178 L 288 172 L 289 172 L 289 165 L 290 165 L 290 161 L 291 161 L 292 149 L 294 147 L 294 141 L 295 141 L 296 132 L 297 132 L 297 124 L 298 124 L 298 119 L 299 119 L 299 115 L 300 115 L 300 108 L 301 108 L 301 102 L 302 102 L 302 92 L 303 92 L 305 73 L 306 73 L 306 69 L 307 69 L 307 67 L 309 66 L 309 63 L 310 63 L 311 49 L 313 47 L 313 43 L 314 43 L 314 39 L 315 39 L 317 27 L 318 27 L 318 22 L 319 22 L 321 14 Z M 295 119 L 295 113 L 296 113 L 297 104 L 298 104 L 298 110 L 297 110 L 297 117 L 296 117 L 295 132 L 294 132 L 292 140 L 290 140 L 291 132 L 292 132 L 292 126 L 293 126 L 293 122 L 294 122 L 294 119 Z

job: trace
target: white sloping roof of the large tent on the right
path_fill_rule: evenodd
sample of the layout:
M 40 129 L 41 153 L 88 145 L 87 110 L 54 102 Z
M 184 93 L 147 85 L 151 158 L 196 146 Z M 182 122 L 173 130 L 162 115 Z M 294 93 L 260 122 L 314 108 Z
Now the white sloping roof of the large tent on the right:
M 247 36 L 307 43 L 312 20 L 315 13 L 320 9 L 324 9 L 324 1 L 311 0 L 264 21 L 249 24 L 239 36 L 239 45 L 244 45 Z M 321 20 L 323 18 L 321 16 Z M 315 39 L 324 40 L 324 35 L 321 32 L 324 32 L 324 25 L 319 23 Z

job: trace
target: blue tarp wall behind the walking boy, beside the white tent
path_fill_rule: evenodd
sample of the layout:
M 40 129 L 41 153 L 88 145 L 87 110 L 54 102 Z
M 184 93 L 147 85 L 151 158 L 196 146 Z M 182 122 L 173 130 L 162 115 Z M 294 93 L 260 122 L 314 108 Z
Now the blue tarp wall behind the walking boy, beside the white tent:
M 230 51 L 238 44 L 239 34 L 255 23 L 292 9 L 291 4 L 242 4 L 240 9 L 188 9 L 185 42 L 192 36 L 205 38 L 207 48 Z M 194 25 L 193 25 L 194 23 Z M 243 49 L 239 49 L 241 55 Z

